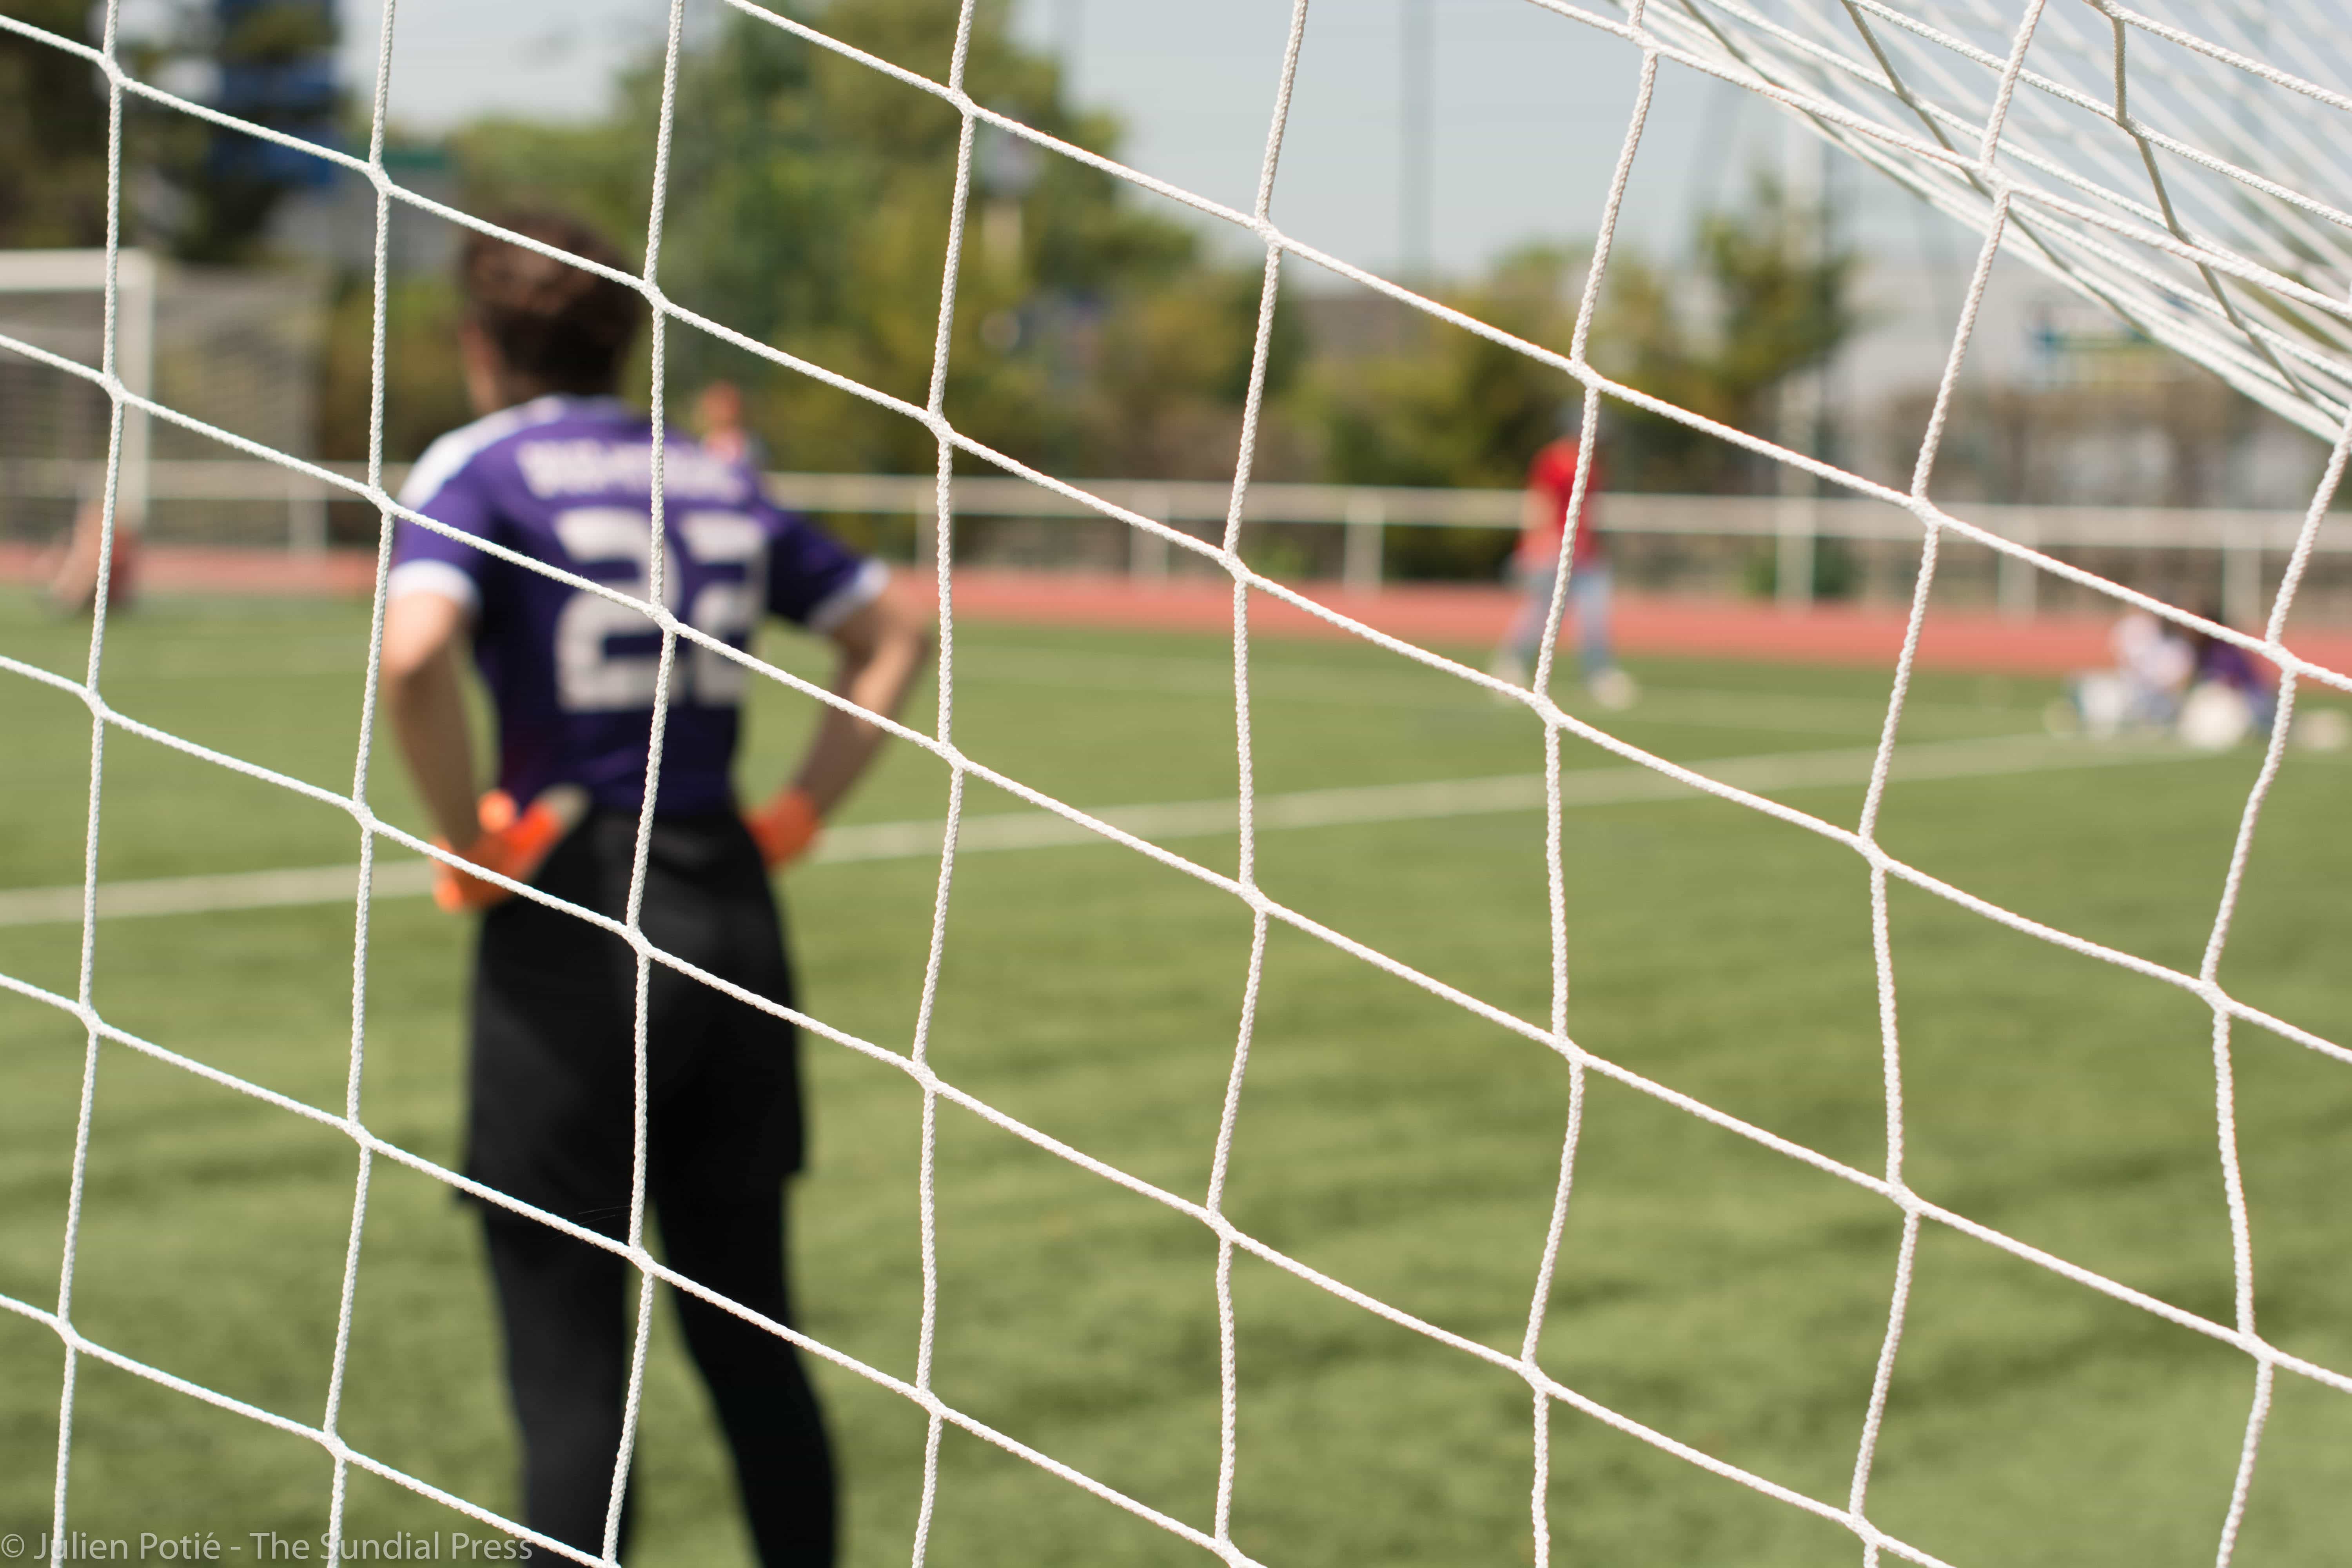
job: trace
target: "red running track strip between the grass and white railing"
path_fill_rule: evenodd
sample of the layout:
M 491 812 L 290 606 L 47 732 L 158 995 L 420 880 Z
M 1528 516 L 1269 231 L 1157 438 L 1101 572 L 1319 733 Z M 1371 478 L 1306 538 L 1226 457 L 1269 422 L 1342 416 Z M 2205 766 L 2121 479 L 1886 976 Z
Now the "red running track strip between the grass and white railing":
M 376 557 L 367 550 L 287 555 L 151 545 L 139 552 L 139 585 L 148 592 L 238 595 L 367 595 Z M 0 545 L 0 581 L 31 583 L 38 552 Z M 929 592 L 929 578 L 906 574 Z M 1515 595 L 1505 588 L 1404 583 L 1381 592 L 1348 592 L 1310 583 L 1301 592 L 1343 616 L 1421 644 L 1482 649 L 1510 625 Z M 955 574 L 955 611 L 967 621 L 1023 625 L 1098 625 L 1112 630 L 1228 632 L 1232 588 L 1218 578 L 1143 583 L 1127 576 L 1009 571 L 964 567 Z M 1919 665 L 2063 675 L 2110 661 L 2112 616 L 2009 618 L 1980 609 L 1931 609 L 1919 632 Z M 1270 595 L 1251 595 L 1249 625 L 1275 637 L 1343 637 L 1327 621 Z M 1618 595 L 1616 639 L 1628 654 L 1689 658 L 1766 658 L 1783 663 L 1891 665 L 1903 649 L 1905 611 L 1877 604 L 1816 604 L 1783 611 L 1752 599 L 1677 599 Z M 2352 670 L 2352 630 L 2303 630 L 2288 646 L 2333 670 Z

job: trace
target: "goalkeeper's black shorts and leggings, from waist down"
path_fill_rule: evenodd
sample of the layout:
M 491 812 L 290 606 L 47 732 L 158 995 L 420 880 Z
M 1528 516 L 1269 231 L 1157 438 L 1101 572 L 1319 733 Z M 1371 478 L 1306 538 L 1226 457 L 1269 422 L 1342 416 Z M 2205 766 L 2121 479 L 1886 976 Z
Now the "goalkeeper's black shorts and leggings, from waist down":
M 536 884 L 619 917 L 635 837 L 635 813 L 590 816 Z M 793 999 L 767 872 L 731 811 L 656 818 L 642 922 L 666 952 L 760 997 Z M 661 1255 L 786 1324 L 783 1190 L 800 1166 L 793 1025 L 668 966 L 649 980 L 644 1185 Z M 635 1016 L 626 943 L 522 898 L 492 910 L 475 964 L 468 1175 L 586 1229 L 626 1234 Z M 597 1552 L 635 1272 L 508 1208 L 485 1206 L 482 1218 L 522 1427 L 524 1521 Z M 677 1293 L 677 1316 L 734 1450 L 760 1561 L 830 1568 L 833 1460 L 797 1352 L 694 1295 Z

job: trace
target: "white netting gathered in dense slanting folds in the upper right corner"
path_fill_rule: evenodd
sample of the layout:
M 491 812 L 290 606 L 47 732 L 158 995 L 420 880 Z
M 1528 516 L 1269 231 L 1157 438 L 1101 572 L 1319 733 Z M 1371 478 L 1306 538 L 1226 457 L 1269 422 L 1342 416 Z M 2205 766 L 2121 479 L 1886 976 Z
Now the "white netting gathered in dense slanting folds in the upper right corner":
M 1804 113 L 1978 233 L 2006 228 L 2009 256 L 2336 440 L 2352 388 L 2343 16 L 2317 0 L 2152 9 L 2065 0 L 2020 28 L 2016 7 L 1969 0 L 1759 0 L 1604 26 Z

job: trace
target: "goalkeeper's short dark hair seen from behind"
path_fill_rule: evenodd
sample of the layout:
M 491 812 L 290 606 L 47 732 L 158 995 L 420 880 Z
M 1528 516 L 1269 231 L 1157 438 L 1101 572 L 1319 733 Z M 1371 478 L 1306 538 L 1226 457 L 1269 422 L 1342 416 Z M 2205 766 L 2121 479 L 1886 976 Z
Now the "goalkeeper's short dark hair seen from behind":
M 579 219 L 520 212 L 494 221 L 581 261 L 628 270 L 621 252 Z M 466 315 L 517 378 L 550 393 L 614 390 L 644 315 L 635 289 L 485 233 L 466 237 L 456 275 Z

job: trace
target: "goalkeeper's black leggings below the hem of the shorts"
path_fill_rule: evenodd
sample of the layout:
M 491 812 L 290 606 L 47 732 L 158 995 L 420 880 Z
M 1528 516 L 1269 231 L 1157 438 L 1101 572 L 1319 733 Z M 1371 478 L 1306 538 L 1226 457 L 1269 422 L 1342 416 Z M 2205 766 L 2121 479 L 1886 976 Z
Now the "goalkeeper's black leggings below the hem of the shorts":
M 501 1211 L 485 1215 L 485 1232 L 522 1427 L 524 1519 L 600 1552 L 628 1394 L 633 1269 L 616 1253 Z M 729 1211 L 663 1206 L 661 1239 L 666 1262 L 687 1279 L 790 1321 L 781 1194 Z M 830 1566 L 833 1455 L 800 1352 L 706 1300 L 668 1295 L 734 1450 L 760 1563 Z

